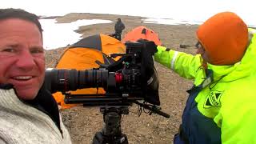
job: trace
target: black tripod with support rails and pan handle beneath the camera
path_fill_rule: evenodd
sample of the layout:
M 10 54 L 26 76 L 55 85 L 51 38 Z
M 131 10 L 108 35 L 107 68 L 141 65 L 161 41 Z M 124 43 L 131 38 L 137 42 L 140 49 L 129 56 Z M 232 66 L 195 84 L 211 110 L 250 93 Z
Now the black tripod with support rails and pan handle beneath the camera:
M 101 131 L 96 132 L 93 138 L 93 144 L 128 144 L 128 138 L 126 134 L 122 134 L 121 119 L 122 114 L 129 114 L 128 106 L 132 106 L 133 103 L 147 110 L 150 110 L 150 114 L 159 114 L 166 118 L 170 118 L 169 114 L 161 111 L 161 108 L 145 102 L 138 102 L 141 98 L 85 98 L 85 94 L 66 94 L 66 103 L 83 103 L 83 106 L 102 106 L 100 112 L 103 114 L 103 120 L 105 126 Z M 98 95 L 97 95 L 98 96 Z M 110 96 L 110 95 L 109 95 Z M 113 96 L 113 95 L 112 95 Z M 124 95 L 126 96 L 126 95 Z M 122 105 L 120 105 L 120 103 Z M 106 104 L 109 104 L 106 106 Z

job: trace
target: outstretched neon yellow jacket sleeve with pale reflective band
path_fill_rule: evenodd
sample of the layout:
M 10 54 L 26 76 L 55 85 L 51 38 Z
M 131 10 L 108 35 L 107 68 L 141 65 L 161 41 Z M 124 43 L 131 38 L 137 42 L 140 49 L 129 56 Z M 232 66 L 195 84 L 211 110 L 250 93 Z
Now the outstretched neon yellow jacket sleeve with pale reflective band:
M 198 69 L 201 67 L 199 54 L 192 55 L 158 46 L 158 52 L 154 54 L 154 60 L 174 70 L 183 78 L 194 79 Z

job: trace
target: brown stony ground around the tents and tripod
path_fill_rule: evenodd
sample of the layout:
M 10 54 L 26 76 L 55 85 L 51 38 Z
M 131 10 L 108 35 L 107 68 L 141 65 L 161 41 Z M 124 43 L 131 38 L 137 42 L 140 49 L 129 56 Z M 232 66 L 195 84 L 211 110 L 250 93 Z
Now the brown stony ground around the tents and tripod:
M 105 19 L 112 23 L 94 24 L 90 26 L 81 26 L 76 32 L 87 37 L 94 34 L 112 34 L 114 33 L 114 22 L 121 18 L 125 23 L 124 34 L 136 26 L 146 26 L 158 33 L 162 46 L 173 50 L 183 51 L 194 54 L 194 44 L 197 42 L 195 31 L 197 25 L 162 25 L 143 22 L 141 17 L 130 17 L 126 15 L 110 14 L 67 14 L 59 17 L 58 22 L 73 22 L 78 19 Z M 186 48 L 180 48 L 180 45 L 188 45 Z M 46 66 L 53 67 L 58 61 L 64 48 L 55 50 L 46 50 Z M 187 93 L 186 90 L 192 86 L 192 82 L 180 78 L 166 67 L 155 62 L 160 81 L 160 101 L 162 110 L 170 114 L 170 118 L 163 118 L 157 114 L 142 113 L 138 117 L 138 106 L 130 107 L 130 114 L 122 118 L 122 132 L 127 135 L 129 143 L 140 144 L 167 144 L 173 142 L 174 134 L 178 130 L 181 122 L 182 110 L 184 109 Z M 61 110 L 63 121 L 70 130 L 70 135 L 74 144 L 90 143 L 94 134 L 102 130 L 103 118 L 98 107 L 76 106 L 70 109 Z

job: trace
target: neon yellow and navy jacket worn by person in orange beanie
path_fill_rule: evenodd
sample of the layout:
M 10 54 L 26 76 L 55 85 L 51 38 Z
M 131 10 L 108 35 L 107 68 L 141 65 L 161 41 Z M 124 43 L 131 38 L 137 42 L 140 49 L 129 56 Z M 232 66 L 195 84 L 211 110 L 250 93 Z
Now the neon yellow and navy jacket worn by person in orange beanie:
M 202 69 L 199 54 L 158 46 L 155 61 L 194 80 L 182 114 L 182 133 L 189 143 L 256 143 L 256 34 L 252 35 L 241 62 L 208 64 L 212 76 Z

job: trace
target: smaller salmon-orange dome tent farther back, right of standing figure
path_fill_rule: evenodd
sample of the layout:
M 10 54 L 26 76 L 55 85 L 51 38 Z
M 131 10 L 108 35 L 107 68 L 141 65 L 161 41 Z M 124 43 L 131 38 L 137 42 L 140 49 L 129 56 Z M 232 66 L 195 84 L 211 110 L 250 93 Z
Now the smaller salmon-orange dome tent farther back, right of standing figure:
M 134 28 L 124 36 L 122 42 L 137 41 L 140 38 L 153 41 L 158 46 L 162 45 L 162 42 L 158 38 L 158 34 L 155 33 L 153 30 L 150 30 L 146 26 L 138 26 Z

